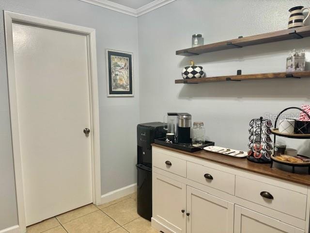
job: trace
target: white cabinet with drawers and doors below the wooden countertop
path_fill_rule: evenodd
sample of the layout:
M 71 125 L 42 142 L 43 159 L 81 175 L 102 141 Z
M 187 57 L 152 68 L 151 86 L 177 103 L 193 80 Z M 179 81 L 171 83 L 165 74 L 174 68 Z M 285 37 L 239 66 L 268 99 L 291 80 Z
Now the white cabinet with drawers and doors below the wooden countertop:
M 153 147 L 158 231 L 310 233 L 309 219 L 308 186 Z

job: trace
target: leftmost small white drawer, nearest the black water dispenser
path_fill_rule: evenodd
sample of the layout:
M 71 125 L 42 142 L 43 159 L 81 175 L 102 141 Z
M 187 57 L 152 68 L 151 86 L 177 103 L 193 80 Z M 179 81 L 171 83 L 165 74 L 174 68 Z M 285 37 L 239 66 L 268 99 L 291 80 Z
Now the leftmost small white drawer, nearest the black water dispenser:
M 165 171 L 186 177 L 185 160 L 161 153 L 159 151 L 154 151 L 153 165 Z

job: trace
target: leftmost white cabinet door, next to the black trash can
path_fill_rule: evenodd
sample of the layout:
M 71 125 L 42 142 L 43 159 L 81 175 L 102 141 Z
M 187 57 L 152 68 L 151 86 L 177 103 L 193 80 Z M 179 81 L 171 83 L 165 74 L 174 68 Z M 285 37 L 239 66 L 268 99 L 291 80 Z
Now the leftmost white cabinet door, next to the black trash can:
M 185 184 L 153 173 L 153 218 L 175 233 L 186 232 Z

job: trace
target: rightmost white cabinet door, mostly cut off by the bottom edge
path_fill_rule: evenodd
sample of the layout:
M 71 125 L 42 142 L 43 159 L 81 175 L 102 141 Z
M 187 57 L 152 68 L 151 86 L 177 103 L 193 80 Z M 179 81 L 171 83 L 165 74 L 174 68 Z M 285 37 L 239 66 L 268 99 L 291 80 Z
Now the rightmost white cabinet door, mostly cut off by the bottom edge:
M 234 233 L 305 233 L 277 219 L 238 205 L 234 207 L 234 220 Z

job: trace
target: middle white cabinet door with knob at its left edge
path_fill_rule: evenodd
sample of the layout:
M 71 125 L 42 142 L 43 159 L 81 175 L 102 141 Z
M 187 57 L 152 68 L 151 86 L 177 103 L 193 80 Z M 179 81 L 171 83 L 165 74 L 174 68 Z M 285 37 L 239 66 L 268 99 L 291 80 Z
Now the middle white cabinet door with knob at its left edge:
M 186 233 L 233 233 L 231 202 L 187 186 Z

